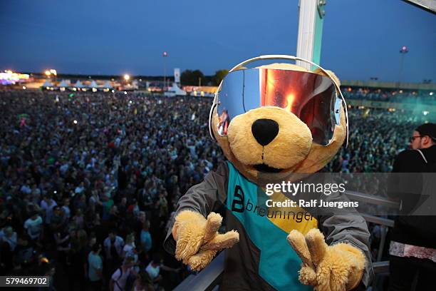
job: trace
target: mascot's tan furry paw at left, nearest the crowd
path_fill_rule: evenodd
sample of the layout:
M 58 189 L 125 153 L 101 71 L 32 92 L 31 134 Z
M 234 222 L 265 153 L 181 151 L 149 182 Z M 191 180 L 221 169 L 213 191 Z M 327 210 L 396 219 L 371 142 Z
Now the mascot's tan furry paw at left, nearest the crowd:
M 175 257 L 189 265 L 192 270 L 202 270 L 224 248 L 239 242 L 239 233 L 231 230 L 221 234 L 222 217 L 209 213 L 207 219 L 200 213 L 184 210 L 175 218 L 172 236 L 177 242 Z

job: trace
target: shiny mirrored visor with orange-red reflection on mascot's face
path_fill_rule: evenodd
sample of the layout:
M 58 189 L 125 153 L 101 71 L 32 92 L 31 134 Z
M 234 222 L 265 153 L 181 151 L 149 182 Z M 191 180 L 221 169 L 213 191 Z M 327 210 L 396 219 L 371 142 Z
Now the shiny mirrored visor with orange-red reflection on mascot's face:
M 294 113 L 311 130 L 313 142 L 326 146 L 340 123 L 341 99 L 326 76 L 302 71 L 249 68 L 229 73 L 217 93 L 218 133 L 227 136 L 232 118 L 262 106 Z

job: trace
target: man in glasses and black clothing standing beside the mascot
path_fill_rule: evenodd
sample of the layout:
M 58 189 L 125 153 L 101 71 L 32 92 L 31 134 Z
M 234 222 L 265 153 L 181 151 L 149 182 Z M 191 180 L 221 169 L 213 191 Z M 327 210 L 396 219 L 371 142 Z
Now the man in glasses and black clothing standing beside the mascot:
M 416 183 L 422 179 L 416 173 L 436 172 L 436 124 L 418 126 L 410 137 L 410 148 L 401 152 L 393 164 L 393 173 L 408 173 L 398 180 L 403 211 L 411 210 L 416 204 L 412 200 L 419 197 L 405 189 L 410 185 L 423 188 Z M 436 216 L 409 213 L 405 210 L 399 215 L 392 230 L 389 290 L 412 290 L 413 282 L 414 290 L 427 290 L 436 274 Z

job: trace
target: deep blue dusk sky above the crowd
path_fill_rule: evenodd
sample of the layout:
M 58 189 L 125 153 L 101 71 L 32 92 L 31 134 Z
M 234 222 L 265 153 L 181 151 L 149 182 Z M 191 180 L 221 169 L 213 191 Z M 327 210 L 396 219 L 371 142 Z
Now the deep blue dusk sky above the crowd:
M 212 75 L 261 54 L 296 53 L 297 0 L 16 0 L 0 9 L 0 69 Z M 343 80 L 436 82 L 436 16 L 400 0 L 327 0 L 321 66 Z

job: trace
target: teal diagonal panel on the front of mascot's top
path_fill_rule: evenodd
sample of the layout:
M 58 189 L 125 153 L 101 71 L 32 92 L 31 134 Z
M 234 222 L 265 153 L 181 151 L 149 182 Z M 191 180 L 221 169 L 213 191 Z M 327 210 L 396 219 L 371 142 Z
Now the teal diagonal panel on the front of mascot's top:
M 312 290 L 298 280 L 301 259 L 286 240 L 288 233 L 272 222 L 271 218 L 277 213 L 265 205 L 269 196 L 244 178 L 232 163 L 227 162 L 227 165 L 229 186 L 226 205 L 260 250 L 259 275 L 276 290 Z

